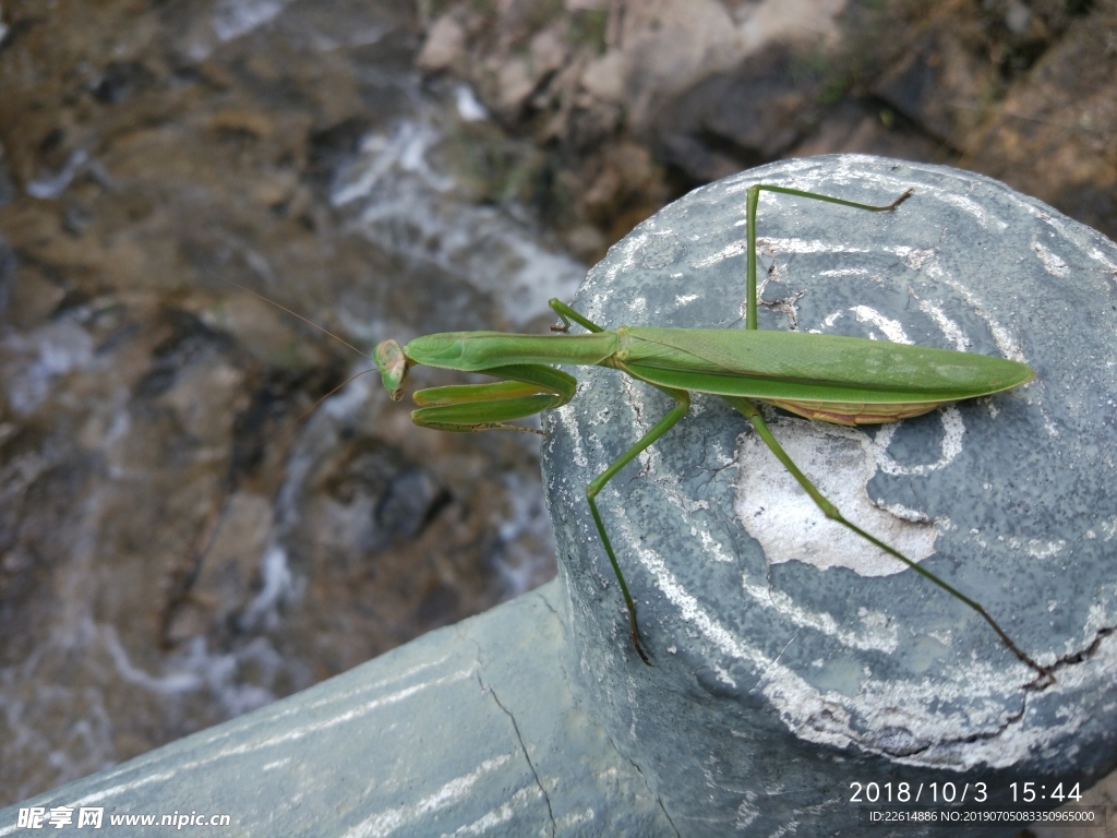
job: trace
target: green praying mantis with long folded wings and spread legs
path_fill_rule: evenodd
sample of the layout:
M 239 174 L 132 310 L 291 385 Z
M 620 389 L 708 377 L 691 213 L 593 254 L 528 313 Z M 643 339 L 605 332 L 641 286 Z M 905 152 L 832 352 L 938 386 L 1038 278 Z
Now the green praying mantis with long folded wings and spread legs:
M 628 610 L 632 646 L 649 666 L 651 659 L 641 642 L 637 603 L 629 592 L 596 498 L 626 465 L 686 416 L 691 393 L 700 392 L 720 397 L 748 419 L 760 438 L 828 518 L 848 527 L 973 609 L 1021 661 L 1039 674 L 1043 685 L 1053 683 L 1050 669 L 1021 649 L 980 603 L 843 517 L 787 456 L 756 406 L 756 401 L 763 401 L 808 419 L 838 425 L 884 423 L 1009 390 L 1030 381 L 1034 372 L 1016 361 L 953 350 L 862 337 L 760 331 L 756 210 L 763 191 L 872 212 L 894 211 L 913 193 L 908 190 L 891 203 L 878 207 L 784 187 L 751 187 L 746 192 L 744 330 L 619 326 L 607 331 L 571 306 L 551 299 L 550 306 L 561 321 L 552 326 L 557 334 L 448 332 L 416 337 L 403 346 L 393 340 L 380 343 L 372 360 L 385 389 L 393 400 L 400 400 L 408 372 L 417 364 L 497 379 L 491 383 L 436 387 L 413 394 L 417 409 L 411 420 L 416 425 L 459 432 L 532 432 L 531 428 L 510 422 L 560 408 L 574 398 L 577 382 L 573 375 L 556 369 L 560 364 L 618 370 L 675 400 L 675 407 L 585 489 L 594 525 Z M 585 328 L 586 333 L 570 334 L 572 323 Z

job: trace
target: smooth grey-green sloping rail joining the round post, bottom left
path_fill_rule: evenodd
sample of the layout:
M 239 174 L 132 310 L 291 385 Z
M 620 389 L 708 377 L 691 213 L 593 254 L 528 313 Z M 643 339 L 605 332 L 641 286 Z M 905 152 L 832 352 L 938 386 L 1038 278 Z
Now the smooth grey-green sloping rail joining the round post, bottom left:
M 231 817 L 229 835 L 678 836 L 577 706 L 552 582 L 22 807 Z M 0 809 L 0 837 L 18 809 Z M 76 818 L 75 818 L 76 820 Z M 197 827 L 192 827 L 197 829 Z M 85 835 L 71 825 L 51 835 Z

